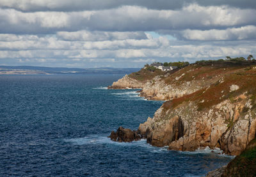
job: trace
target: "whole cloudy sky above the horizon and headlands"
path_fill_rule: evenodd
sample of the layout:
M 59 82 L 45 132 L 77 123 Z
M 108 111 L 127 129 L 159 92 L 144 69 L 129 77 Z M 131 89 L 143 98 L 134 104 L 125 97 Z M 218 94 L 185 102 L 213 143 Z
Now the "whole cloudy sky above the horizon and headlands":
M 256 55 L 255 0 L 0 0 L 0 65 L 143 67 Z

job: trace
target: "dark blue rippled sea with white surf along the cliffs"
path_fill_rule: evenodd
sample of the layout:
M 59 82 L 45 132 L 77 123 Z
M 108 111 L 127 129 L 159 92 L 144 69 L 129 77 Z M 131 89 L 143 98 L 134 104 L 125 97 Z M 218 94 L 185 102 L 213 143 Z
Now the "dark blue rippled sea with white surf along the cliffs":
M 204 176 L 232 157 L 116 143 L 161 101 L 107 90 L 122 75 L 0 76 L 0 176 Z

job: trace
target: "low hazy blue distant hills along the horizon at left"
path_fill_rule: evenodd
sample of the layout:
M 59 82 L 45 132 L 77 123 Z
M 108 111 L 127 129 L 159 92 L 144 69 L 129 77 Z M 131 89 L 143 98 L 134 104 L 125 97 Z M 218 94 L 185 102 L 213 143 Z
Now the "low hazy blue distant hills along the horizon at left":
M 70 68 L 40 66 L 0 66 L 0 74 L 130 74 L 140 68 Z

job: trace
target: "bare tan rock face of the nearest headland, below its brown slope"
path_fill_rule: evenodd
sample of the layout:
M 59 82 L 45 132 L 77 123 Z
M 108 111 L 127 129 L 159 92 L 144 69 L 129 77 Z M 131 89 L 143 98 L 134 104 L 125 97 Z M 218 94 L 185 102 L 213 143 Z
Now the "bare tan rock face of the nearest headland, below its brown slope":
M 196 150 L 199 147 L 221 148 L 230 155 L 239 155 L 255 138 L 256 119 L 250 111 L 243 112 L 250 99 L 237 97 L 236 103 L 225 100 L 204 111 L 193 102 L 165 110 L 162 106 L 154 118 L 138 129 L 154 146 L 170 150 Z M 247 105 L 248 106 L 248 105 Z

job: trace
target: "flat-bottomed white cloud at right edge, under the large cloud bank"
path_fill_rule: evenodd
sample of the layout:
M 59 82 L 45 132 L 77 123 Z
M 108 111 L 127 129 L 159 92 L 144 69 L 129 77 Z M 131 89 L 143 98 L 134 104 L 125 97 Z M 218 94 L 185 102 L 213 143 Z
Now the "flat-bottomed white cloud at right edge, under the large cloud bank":
M 211 29 L 207 31 L 186 29 L 181 34 L 185 39 L 200 41 L 256 39 L 256 27 L 248 25 L 225 30 Z

